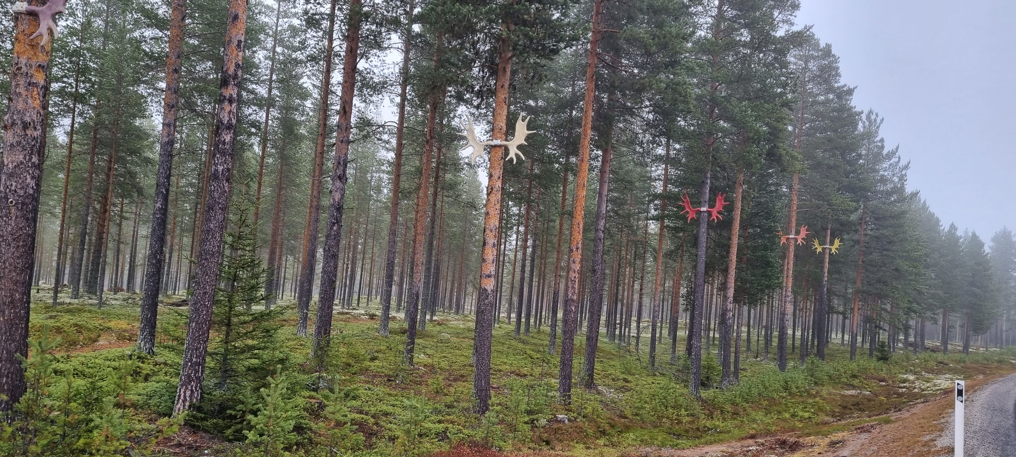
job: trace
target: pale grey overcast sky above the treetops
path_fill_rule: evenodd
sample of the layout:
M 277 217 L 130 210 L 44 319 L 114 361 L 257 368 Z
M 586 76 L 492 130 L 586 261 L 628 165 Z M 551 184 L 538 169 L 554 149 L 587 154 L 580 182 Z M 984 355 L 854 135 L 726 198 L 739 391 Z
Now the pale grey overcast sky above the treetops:
M 943 223 L 1016 230 L 1016 0 L 802 0 Z

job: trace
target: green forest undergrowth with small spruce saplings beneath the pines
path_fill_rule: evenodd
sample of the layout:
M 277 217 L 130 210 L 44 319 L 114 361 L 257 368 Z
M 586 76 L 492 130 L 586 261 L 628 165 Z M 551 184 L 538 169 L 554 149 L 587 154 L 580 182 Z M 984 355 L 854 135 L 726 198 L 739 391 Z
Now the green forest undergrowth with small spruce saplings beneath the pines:
M 883 362 L 851 362 L 834 340 L 826 362 L 810 358 L 781 374 L 755 357 L 752 341 L 740 383 L 726 389 L 716 387 L 720 368 L 712 346 L 698 400 L 688 391 L 687 358 L 671 364 L 668 354 L 650 370 L 643 338 L 638 349 L 634 341 L 600 344 L 596 388 L 577 388 L 564 405 L 557 401 L 559 357 L 548 352 L 548 329 L 515 338 L 513 326 L 501 323 L 493 345 L 493 408 L 478 416 L 471 317 L 438 314 L 420 333 L 416 366 L 408 367 L 399 317 L 385 338 L 376 334 L 377 304 L 338 310 L 330 350 L 311 360 L 309 340 L 294 332 L 296 312 L 280 302 L 270 312 L 242 313 L 254 317 L 232 321 L 228 332 L 213 326 L 202 400 L 182 418 L 170 418 L 186 308 L 164 307 L 166 336 L 154 355 L 145 355 L 133 350 L 138 298 L 106 300 L 102 309 L 87 299 L 33 307 L 28 394 L 19 419 L 0 429 L 0 454 L 427 456 L 466 444 L 604 455 L 833 433 L 934 396 L 952 378 L 1016 371 L 1014 349 L 968 356 L 899 350 L 877 357 Z

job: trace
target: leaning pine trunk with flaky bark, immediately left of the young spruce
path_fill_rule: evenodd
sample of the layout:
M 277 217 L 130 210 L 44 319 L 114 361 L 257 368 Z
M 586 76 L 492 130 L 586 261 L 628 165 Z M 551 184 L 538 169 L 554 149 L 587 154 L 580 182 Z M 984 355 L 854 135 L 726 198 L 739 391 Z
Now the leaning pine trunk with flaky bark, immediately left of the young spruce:
M 208 200 L 201 225 L 198 249 L 198 271 L 190 300 L 187 339 L 184 343 L 180 386 L 177 389 L 173 414 L 179 415 L 201 399 L 208 332 L 215 298 L 218 267 L 223 260 L 223 235 L 229 206 L 233 154 L 237 130 L 237 99 L 243 70 L 244 44 L 247 27 L 247 0 L 230 0 L 227 12 L 226 46 L 223 76 L 219 83 L 218 108 L 215 112 L 215 142 L 212 146 L 211 175 Z

